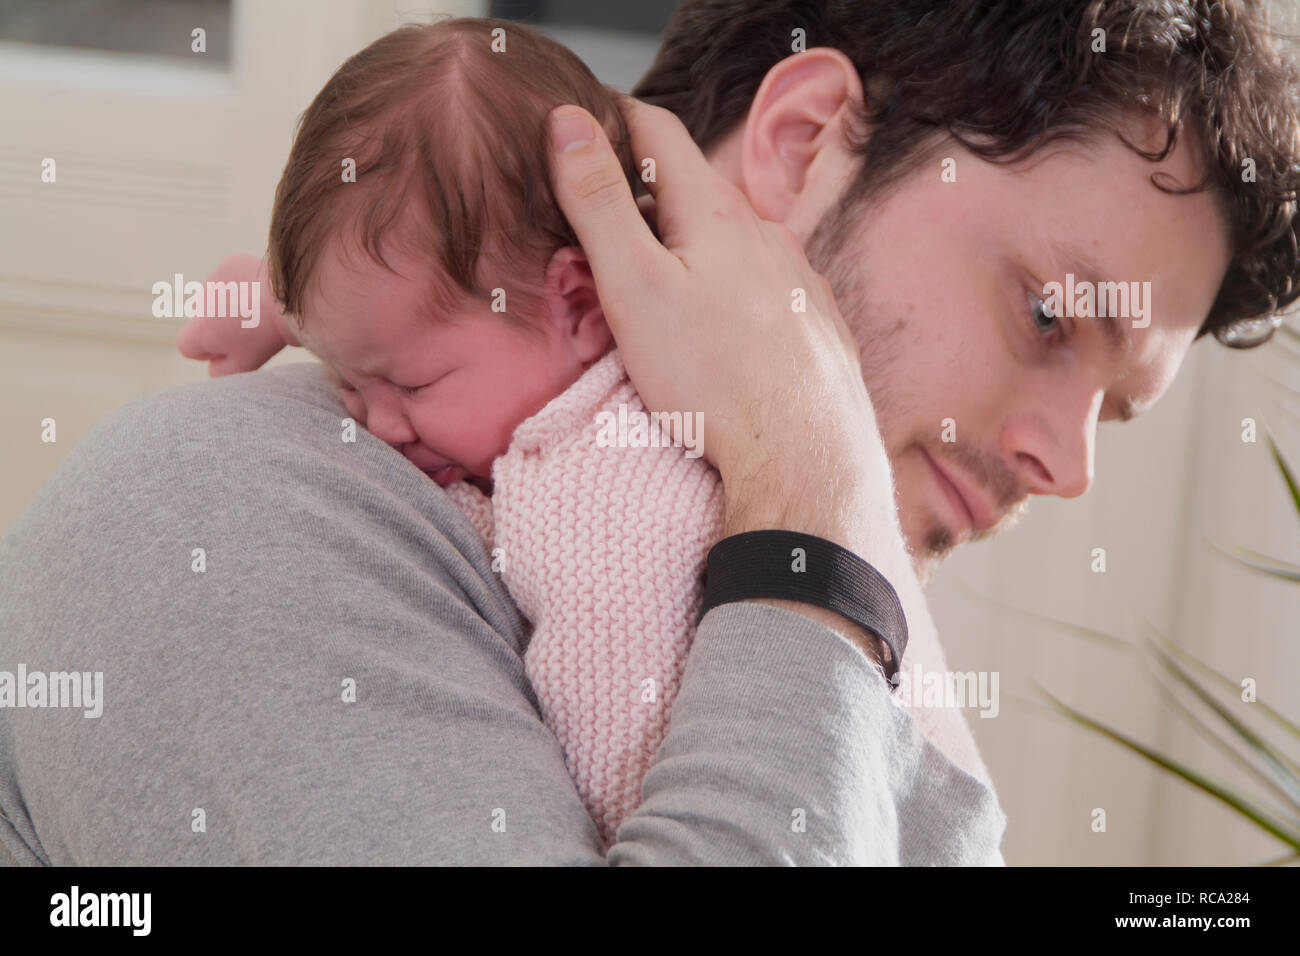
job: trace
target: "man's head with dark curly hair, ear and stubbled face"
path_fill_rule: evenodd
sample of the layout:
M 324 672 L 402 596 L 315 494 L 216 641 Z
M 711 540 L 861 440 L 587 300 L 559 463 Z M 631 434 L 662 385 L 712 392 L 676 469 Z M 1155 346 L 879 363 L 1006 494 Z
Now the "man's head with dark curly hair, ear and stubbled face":
M 1027 496 L 1083 494 L 1098 421 L 1148 408 L 1193 338 L 1258 343 L 1234 321 L 1300 294 L 1295 81 L 1247 69 L 1258 16 L 1082 0 L 675 13 L 633 92 L 675 112 L 831 280 L 923 575 Z M 1179 140 L 1150 163 L 1138 150 L 1165 151 L 1164 117 Z M 1022 165 L 979 159 L 1024 150 Z M 1202 177 L 1195 195 L 1153 187 Z M 1053 316 L 1045 286 L 1067 276 L 1138 282 L 1149 302 Z

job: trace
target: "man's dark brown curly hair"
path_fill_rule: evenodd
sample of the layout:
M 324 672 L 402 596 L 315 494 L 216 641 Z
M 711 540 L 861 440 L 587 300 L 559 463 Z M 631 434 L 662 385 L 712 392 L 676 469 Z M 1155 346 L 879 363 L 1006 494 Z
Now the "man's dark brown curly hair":
M 685 0 L 636 96 L 675 112 L 702 148 L 749 112 L 764 74 L 806 46 L 857 65 L 863 163 L 840 216 L 953 137 L 991 161 L 1157 116 L 1152 161 L 1190 139 L 1231 233 L 1232 259 L 1197 332 L 1268 341 L 1300 298 L 1300 72 L 1253 0 Z M 1098 51 L 1098 38 L 1105 51 Z M 1118 135 L 1118 134 L 1115 134 Z

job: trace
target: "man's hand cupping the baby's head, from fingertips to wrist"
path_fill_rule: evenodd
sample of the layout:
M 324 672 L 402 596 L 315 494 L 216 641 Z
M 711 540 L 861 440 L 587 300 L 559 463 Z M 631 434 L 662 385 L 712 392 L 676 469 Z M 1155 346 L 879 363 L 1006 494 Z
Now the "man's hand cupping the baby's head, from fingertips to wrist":
M 624 113 L 634 155 L 656 163 L 649 186 L 662 245 L 603 131 L 577 107 L 555 109 L 552 130 L 577 124 L 589 142 L 556 152 L 552 169 L 646 406 L 703 411 L 705 458 L 724 472 L 755 444 L 768 458 L 814 453 L 831 436 L 870 440 L 857 347 L 794 234 L 759 219 L 672 113 L 632 99 Z

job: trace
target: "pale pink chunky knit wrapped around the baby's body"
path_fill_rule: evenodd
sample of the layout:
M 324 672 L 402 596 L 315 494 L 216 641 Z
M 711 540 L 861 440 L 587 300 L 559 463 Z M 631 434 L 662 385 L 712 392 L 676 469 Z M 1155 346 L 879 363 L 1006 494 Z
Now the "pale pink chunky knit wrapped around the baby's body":
M 667 428 L 627 429 L 636 446 L 603 446 L 602 412 L 632 421 L 645 414 L 618 350 L 516 429 L 493 466 L 491 498 L 463 481 L 446 492 L 493 549 L 493 567 L 533 626 L 525 671 L 608 847 L 641 803 L 668 728 L 705 561 L 722 535 L 723 489 Z M 909 644 L 904 667 L 918 662 L 946 667 L 932 640 Z M 959 711 L 910 713 L 945 756 L 988 780 Z

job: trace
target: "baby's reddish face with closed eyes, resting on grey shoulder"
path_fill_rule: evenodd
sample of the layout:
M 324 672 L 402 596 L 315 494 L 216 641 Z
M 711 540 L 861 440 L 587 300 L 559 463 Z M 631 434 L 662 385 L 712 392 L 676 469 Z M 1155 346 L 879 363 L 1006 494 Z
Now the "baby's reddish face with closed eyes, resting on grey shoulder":
M 482 303 L 426 317 L 433 267 L 386 252 L 394 274 L 338 246 L 317 265 L 303 345 L 374 436 L 442 486 L 484 485 L 515 428 L 581 376 L 581 360 L 550 323 L 530 333 Z

